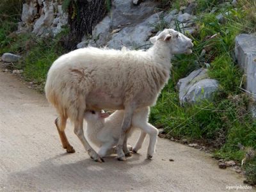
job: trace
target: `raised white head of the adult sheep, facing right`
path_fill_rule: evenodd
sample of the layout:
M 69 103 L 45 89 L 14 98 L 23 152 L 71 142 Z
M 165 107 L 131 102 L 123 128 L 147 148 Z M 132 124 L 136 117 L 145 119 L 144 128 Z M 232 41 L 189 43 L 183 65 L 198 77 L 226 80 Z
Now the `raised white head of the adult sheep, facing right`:
M 163 44 L 170 48 L 171 54 L 191 54 L 192 40 L 173 29 L 164 29 L 159 35 L 150 38 L 152 44 Z

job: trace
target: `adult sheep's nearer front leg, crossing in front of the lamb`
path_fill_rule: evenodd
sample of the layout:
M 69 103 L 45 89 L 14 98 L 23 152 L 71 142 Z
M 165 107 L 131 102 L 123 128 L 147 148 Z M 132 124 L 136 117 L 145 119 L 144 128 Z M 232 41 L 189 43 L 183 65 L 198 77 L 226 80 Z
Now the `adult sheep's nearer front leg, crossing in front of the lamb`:
M 126 161 L 125 154 L 123 151 L 125 136 L 127 134 L 127 131 L 129 131 L 129 128 L 131 127 L 131 121 L 132 121 L 132 114 L 135 109 L 135 106 L 133 105 L 127 105 L 124 109 L 124 120 L 122 123 L 122 131 L 120 138 L 118 140 L 118 143 L 116 145 L 116 154 L 119 161 Z

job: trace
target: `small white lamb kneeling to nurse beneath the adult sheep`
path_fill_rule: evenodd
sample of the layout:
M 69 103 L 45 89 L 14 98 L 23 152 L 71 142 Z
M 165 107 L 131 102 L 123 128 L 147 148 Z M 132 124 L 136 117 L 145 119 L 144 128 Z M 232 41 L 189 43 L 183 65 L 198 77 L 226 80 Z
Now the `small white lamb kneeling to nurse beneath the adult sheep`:
M 141 108 L 134 111 L 132 116 L 131 129 L 128 137 L 131 136 L 135 128 L 141 129 L 140 138 L 138 139 L 133 152 L 138 152 L 143 144 L 146 134 L 150 136 L 148 145 L 148 153 L 153 154 L 156 149 L 158 130 L 156 127 L 148 123 L 149 108 Z M 84 113 L 86 120 L 86 136 L 92 141 L 99 149 L 99 156 L 105 157 L 106 155 L 113 154 L 114 148 L 121 134 L 121 125 L 124 119 L 124 110 L 116 110 L 110 116 L 108 113 L 102 111 L 86 111 Z M 151 159 L 152 156 L 148 156 Z

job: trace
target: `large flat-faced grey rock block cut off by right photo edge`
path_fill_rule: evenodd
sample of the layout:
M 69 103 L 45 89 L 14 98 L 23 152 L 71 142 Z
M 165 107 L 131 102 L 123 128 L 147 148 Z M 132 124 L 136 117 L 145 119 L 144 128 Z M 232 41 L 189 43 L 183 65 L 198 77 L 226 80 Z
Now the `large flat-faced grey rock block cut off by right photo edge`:
M 246 75 L 246 91 L 252 98 L 249 104 L 252 116 L 256 118 L 256 36 L 240 34 L 236 36 L 236 58 L 237 63 Z

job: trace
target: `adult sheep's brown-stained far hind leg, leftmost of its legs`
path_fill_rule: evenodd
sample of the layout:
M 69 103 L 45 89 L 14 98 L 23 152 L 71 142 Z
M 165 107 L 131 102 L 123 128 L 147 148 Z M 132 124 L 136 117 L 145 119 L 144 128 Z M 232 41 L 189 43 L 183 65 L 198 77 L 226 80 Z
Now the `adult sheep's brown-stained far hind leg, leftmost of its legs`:
M 66 148 L 68 153 L 76 152 L 76 150 L 74 150 L 74 148 L 68 142 L 67 136 L 65 134 L 65 127 L 66 127 L 66 124 L 67 124 L 67 118 L 65 118 L 65 117 L 56 118 L 54 123 L 55 123 L 55 125 L 57 127 L 57 130 L 58 130 L 58 133 L 60 135 L 60 140 L 61 140 L 61 143 L 62 143 L 62 147 Z M 63 131 L 60 129 L 60 127 L 62 127 Z

